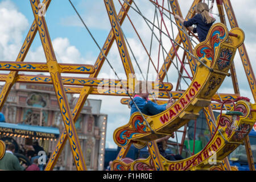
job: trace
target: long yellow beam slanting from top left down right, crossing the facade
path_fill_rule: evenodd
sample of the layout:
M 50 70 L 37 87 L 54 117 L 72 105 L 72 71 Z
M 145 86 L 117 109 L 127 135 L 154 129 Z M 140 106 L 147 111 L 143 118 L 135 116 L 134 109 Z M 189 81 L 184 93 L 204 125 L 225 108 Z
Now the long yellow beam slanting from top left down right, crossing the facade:
M 86 165 L 84 161 L 84 156 L 82 155 L 79 138 L 77 136 L 75 123 L 71 115 L 71 109 L 69 107 L 68 98 L 65 94 L 63 82 L 61 81 L 60 68 L 57 63 L 55 53 L 53 51 L 51 39 L 49 37 L 49 32 L 44 16 L 39 15 L 39 0 L 30 0 L 32 11 L 38 25 L 38 31 L 44 53 L 47 60 L 47 65 L 49 67 L 49 73 L 52 78 L 53 87 L 55 89 L 57 101 L 60 107 L 61 116 L 63 118 L 65 131 L 68 134 L 69 144 L 71 146 L 71 151 L 73 154 L 73 159 L 77 170 L 86 170 Z

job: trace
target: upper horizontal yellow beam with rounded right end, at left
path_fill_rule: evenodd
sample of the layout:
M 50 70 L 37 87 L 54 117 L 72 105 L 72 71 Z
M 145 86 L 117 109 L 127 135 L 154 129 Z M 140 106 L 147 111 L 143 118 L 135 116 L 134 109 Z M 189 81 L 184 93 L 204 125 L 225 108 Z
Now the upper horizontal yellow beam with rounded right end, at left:
M 61 73 L 92 74 L 95 71 L 93 65 L 88 64 L 59 64 Z M 2 71 L 48 72 L 46 63 L 0 61 Z

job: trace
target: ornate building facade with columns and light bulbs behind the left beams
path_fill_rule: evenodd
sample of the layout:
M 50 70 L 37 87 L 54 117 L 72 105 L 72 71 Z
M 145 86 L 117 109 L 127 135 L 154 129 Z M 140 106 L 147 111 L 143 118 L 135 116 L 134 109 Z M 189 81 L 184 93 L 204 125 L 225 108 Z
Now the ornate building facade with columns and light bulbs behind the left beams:
M 67 94 L 67 97 L 69 106 L 73 110 L 78 98 L 73 94 Z M 88 170 L 104 169 L 108 115 L 100 113 L 100 109 L 101 100 L 87 99 L 75 123 Z M 5 115 L 6 123 L 57 127 L 60 134 L 64 131 L 64 123 L 52 85 L 16 83 L 1 112 Z M 25 144 L 25 138 L 14 136 L 13 138 L 19 145 Z M 32 139 L 38 140 L 48 155 L 51 155 L 57 143 L 56 139 L 34 137 Z M 76 170 L 68 141 L 55 169 Z

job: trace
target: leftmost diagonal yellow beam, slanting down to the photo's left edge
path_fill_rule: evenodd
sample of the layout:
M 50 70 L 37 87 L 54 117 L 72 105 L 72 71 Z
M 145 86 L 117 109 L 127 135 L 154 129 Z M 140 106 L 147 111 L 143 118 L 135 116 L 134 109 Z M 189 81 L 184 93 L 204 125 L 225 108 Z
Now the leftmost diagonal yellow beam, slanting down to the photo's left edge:
M 49 7 L 49 3 L 51 3 L 51 0 L 44 0 L 43 3 L 46 5 L 46 11 L 47 11 Z M 34 40 L 37 31 L 38 31 L 38 27 L 36 26 L 36 21 L 34 20 L 24 40 L 24 43 L 22 44 L 22 48 L 20 49 L 20 52 L 18 54 L 18 57 L 16 58 L 16 61 L 24 61 L 27 55 L 28 49 L 30 48 L 31 43 Z M 15 79 L 17 75 L 18 75 L 18 72 L 11 71 L 9 73 L 8 79 L 5 80 L 6 83 L 3 86 L 3 89 L 0 94 L 0 110 L 2 110 L 2 107 L 5 104 L 8 94 L 12 86 L 15 84 Z

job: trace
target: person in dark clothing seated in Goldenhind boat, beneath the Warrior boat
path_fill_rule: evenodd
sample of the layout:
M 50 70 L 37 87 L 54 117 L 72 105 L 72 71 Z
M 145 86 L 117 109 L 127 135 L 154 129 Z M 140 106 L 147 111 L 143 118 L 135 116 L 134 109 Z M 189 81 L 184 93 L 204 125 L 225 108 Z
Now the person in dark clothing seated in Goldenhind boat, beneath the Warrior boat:
M 172 135 L 174 137 L 174 135 Z M 156 140 L 156 143 L 158 144 L 158 150 L 159 153 L 166 158 L 167 160 L 182 160 L 183 157 L 179 154 L 177 155 L 172 155 L 172 154 L 167 154 L 166 149 L 167 149 L 167 140 L 170 138 L 170 136 L 166 136 L 163 138 L 159 138 Z

